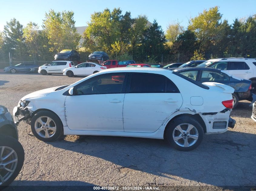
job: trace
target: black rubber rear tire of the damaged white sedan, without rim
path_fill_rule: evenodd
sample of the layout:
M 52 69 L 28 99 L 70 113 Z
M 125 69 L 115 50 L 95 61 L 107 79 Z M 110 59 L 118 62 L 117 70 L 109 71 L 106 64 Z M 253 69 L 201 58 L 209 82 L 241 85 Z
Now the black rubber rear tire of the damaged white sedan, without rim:
M 192 134 L 190 134 L 191 131 L 189 131 L 188 134 L 187 134 L 186 133 L 186 125 L 181 125 L 181 124 L 191 124 L 192 126 L 194 126 L 193 129 L 191 129 L 191 131 L 193 131 L 193 132 L 197 131 L 197 132 L 196 133 L 192 132 Z M 182 128 L 183 134 L 180 131 L 178 131 L 178 129 L 176 129 L 176 127 L 179 126 L 179 125 L 181 125 L 180 127 Z M 191 116 L 179 116 L 179 117 L 173 119 L 170 123 L 168 123 L 166 128 L 167 129 L 166 129 L 166 132 L 165 132 L 166 133 L 165 138 L 167 138 L 167 141 L 169 142 L 170 145 L 172 145 L 175 149 L 177 149 L 179 151 L 194 150 L 195 148 L 197 148 L 200 145 L 200 143 L 203 140 L 204 130 L 203 130 L 201 124 Z M 180 133 L 180 135 L 176 134 L 177 132 Z M 178 139 L 177 143 L 174 141 L 174 138 L 173 138 L 173 135 L 175 135 L 175 134 L 178 137 L 182 136 L 181 138 Z M 198 138 L 195 141 L 195 139 L 189 137 L 189 135 L 191 135 L 191 136 L 192 135 L 197 135 Z M 187 142 L 189 141 L 190 144 L 192 144 L 192 142 L 194 142 L 194 141 L 195 142 L 193 143 L 193 145 L 188 146 L 188 147 L 178 145 L 178 144 L 182 144 L 182 142 L 184 142 L 184 145 L 185 145 L 186 140 L 187 140 Z

